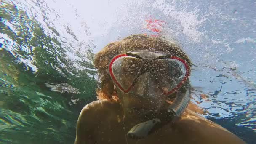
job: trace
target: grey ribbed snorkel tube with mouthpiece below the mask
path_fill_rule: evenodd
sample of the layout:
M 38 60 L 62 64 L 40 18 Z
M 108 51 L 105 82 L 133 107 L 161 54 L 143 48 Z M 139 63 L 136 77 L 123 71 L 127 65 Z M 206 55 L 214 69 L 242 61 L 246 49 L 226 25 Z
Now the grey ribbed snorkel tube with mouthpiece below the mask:
M 131 139 L 142 139 L 148 136 L 150 133 L 153 133 L 157 129 L 161 128 L 163 125 L 172 121 L 176 117 L 181 116 L 181 114 L 184 112 L 184 110 L 187 108 L 189 104 L 190 94 L 191 94 L 190 85 L 189 85 L 189 88 L 187 88 L 186 93 L 181 93 L 181 91 L 178 91 L 177 96 L 173 101 L 173 104 L 171 104 L 168 107 L 168 109 L 166 109 L 167 111 L 158 114 L 158 117 L 159 115 L 164 115 L 167 121 L 160 120 L 160 118 L 156 117 L 152 120 L 139 123 L 133 126 L 133 128 L 131 128 L 130 131 L 128 131 L 127 133 L 128 137 Z

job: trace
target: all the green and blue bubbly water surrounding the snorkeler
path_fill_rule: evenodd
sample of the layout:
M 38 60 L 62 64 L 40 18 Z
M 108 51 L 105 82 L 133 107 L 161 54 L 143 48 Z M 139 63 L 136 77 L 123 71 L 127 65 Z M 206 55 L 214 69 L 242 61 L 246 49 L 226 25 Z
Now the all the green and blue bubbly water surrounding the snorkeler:
M 140 33 L 181 43 L 192 102 L 255 143 L 255 0 L 0 0 L 0 143 L 73 143 L 94 53 Z

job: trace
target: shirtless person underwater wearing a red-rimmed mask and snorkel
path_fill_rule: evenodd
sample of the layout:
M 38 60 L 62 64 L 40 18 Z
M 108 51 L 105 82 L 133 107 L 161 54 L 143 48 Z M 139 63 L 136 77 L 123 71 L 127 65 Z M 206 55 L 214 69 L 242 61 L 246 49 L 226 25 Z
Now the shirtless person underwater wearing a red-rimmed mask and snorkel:
M 75 144 L 245 143 L 194 112 L 192 64 L 178 44 L 131 35 L 108 44 L 94 64 L 99 100 L 82 109 Z

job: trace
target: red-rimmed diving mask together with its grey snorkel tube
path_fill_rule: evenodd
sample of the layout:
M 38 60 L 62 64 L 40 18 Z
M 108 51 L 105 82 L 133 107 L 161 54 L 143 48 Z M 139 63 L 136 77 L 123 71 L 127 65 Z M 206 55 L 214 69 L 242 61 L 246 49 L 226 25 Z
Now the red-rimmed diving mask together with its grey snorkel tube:
M 179 57 L 152 51 L 123 53 L 112 59 L 109 73 L 123 93 L 143 98 L 167 97 L 176 93 L 173 104 L 170 104 L 163 114 L 159 114 L 165 115 L 165 119 L 169 121 L 179 117 L 189 104 L 190 87 L 186 93 L 178 90 L 187 81 L 190 68 L 186 61 Z M 163 124 L 160 118 L 155 117 L 135 125 L 127 134 L 132 139 L 144 138 Z

